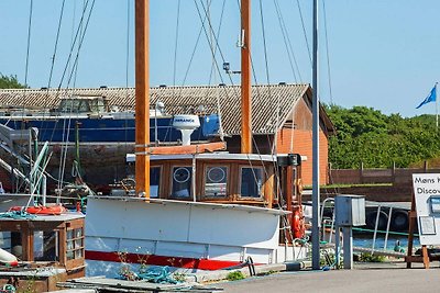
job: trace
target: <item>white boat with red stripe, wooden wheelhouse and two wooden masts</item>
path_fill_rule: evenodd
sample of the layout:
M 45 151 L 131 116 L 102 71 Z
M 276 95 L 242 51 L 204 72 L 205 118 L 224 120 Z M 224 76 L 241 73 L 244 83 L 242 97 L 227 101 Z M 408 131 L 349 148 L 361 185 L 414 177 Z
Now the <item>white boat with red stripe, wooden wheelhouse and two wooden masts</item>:
M 136 0 L 135 12 L 135 178 L 131 188 L 88 196 L 87 273 L 118 277 L 122 263 L 216 270 L 304 257 L 296 246 L 304 236 L 300 156 L 252 154 L 249 1 L 241 9 L 242 154 L 150 144 L 147 1 Z

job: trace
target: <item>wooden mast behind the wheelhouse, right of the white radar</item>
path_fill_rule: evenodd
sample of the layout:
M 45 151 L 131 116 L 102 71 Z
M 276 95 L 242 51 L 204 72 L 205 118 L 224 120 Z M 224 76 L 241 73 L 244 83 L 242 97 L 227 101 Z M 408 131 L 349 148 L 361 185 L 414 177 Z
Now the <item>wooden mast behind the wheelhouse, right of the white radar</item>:
M 252 153 L 251 0 L 241 0 L 241 153 Z

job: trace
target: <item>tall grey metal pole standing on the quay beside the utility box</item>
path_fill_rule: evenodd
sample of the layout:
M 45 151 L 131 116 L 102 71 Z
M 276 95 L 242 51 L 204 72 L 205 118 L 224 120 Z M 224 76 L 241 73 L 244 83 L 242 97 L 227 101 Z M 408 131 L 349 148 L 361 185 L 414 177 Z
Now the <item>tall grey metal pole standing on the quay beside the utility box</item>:
M 314 70 L 312 70 L 312 228 L 311 267 L 319 270 L 319 99 L 318 99 L 318 0 L 314 0 Z

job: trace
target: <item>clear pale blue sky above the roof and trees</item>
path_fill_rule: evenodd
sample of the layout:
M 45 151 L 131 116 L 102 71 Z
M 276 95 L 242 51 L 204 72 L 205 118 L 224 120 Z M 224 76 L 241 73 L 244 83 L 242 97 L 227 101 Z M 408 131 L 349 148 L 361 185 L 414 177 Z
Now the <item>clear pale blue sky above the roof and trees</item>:
M 298 0 L 302 10 L 308 41 L 311 41 L 311 0 Z M 48 84 L 62 0 L 34 0 L 28 83 L 32 88 Z M 74 26 L 87 0 L 67 0 L 55 57 L 52 87 L 62 82 Z M 196 47 L 201 21 L 195 3 L 182 0 L 176 47 L 178 0 L 151 0 L 151 84 L 209 84 L 221 78 L 210 78 L 211 54 L 205 33 Z M 204 0 L 206 3 L 206 0 Z M 218 30 L 222 0 L 212 0 L 212 23 Z M 91 0 L 90 2 L 91 3 Z M 299 18 L 297 0 L 263 0 L 263 21 L 267 52 L 267 70 L 263 42 L 260 0 L 254 0 L 252 15 L 252 56 L 257 83 L 280 81 L 311 82 L 311 64 Z M 276 13 L 275 3 L 280 14 Z M 128 11 L 128 4 L 130 11 Z M 322 4 L 322 1 L 321 1 Z M 69 87 L 131 87 L 133 77 L 133 0 L 96 0 L 81 45 L 78 70 Z M 435 0 L 327 0 L 328 59 L 323 14 L 320 14 L 320 98 L 344 108 L 365 105 L 385 114 L 403 116 L 435 114 L 435 103 L 416 106 L 428 95 L 440 68 L 440 1 Z M 26 40 L 30 0 L 0 1 L 0 72 L 25 78 Z M 128 27 L 128 14 L 130 25 Z M 283 18 L 288 31 L 297 68 L 289 65 L 279 25 Z M 221 22 L 219 46 L 223 58 L 239 70 L 240 50 L 235 46 L 240 34 L 237 0 L 227 0 Z M 129 46 L 128 46 L 129 35 Z M 129 52 L 129 55 L 128 55 Z M 129 61 L 127 57 L 129 56 Z M 176 56 L 176 58 L 175 58 Z M 223 59 L 218 56 L 221 67 Z M 127 75 L 127 68 L 129 75 Z M 188 76 L 184 82 L 184 77 Z M 176 72 L 176 74 L 174 74 Z M 231 81 L 222 72 L 223 82 Z M 232 79 L 239 83 L 239 76 Z

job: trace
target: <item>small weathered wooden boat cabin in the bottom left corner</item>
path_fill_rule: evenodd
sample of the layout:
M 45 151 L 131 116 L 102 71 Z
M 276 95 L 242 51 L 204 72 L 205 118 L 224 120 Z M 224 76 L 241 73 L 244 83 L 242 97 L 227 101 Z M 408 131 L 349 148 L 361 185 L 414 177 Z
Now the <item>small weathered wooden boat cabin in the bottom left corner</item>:
M 19 266 L 0 266 L 0 283 L 13 281 L 16 290 L 46 292 L 56 290 L 56 282 L 84 277 L 84 226 L 81 213 L 1 217 L 0 247 L 14 255 Z

